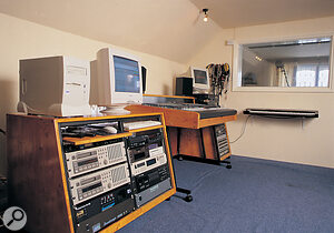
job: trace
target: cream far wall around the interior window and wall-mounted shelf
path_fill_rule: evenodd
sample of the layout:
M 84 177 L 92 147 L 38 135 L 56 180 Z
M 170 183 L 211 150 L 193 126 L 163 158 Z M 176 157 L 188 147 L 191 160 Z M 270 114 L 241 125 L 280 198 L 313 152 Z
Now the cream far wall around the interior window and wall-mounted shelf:
M 232 64 L 233 48 L 226 40 L 284 39 L 334 32 L 334 17 L 286 23 L 222 30 L 189 64 Z M 333 61 L 332 61 L 333 62 Z M 333 73 L 332 73 L 333 75 Z M 232 144 L 234 154 L 334 168 L 334 93 L 229 92 L 224 104 L 237 109 L 294 108 L 318 110 L 320 118 L 273 120 L 252 116 L 244 136 Z M 246 116 L 227 124 L 229 139 L 236 139 Z

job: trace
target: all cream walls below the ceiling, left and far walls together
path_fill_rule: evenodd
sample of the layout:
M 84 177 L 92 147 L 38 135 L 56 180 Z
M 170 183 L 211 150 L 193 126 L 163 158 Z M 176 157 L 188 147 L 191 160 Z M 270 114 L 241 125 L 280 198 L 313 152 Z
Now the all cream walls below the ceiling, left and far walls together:
M 233 48 L 226 40 L 257 40 L 333 33 L 334 18 L 296 21 L 278 24 L 222 30 L 185 65 L 159 57 L 129 50 L 141 57 L 148 69 L 147 93 L 171 94 L 173 80 L 184 73 L 189 64 L 233 61 Z M 96 51 L 108 44 L 61 32 L 24 20 L 0 14 L 0 128 L 6 129 L 6 113 L 16 112 L 18 101 L 19 59 L 45 55 L 70 55 L 92 60 Z M 109 44 L 110 45 L 110 44 Z M 178 48 L 179 49 L 179 48 Z M 245 108 L 316 109 L 320 119 L 267 120 L 253 118 L 245 135 L 232 144 L 234 154 L 334 168 L 334 94 L 333 93 L 267 93 L 229 92 L 224 98 L 226 107 L 239 112 Z M 230 140 L 237 138 L 245 122 L 240 114 L 228 123 Z M 0 173 L 6 172 L 6 141 L 0 134 Z

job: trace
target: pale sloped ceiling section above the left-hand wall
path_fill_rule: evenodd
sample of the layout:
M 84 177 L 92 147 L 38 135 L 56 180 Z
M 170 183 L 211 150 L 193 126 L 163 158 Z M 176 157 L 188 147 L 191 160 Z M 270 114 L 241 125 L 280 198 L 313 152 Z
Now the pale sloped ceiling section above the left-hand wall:
M 181 63 L 220 30 L 188 0 L 1 0 L 0 12 Z

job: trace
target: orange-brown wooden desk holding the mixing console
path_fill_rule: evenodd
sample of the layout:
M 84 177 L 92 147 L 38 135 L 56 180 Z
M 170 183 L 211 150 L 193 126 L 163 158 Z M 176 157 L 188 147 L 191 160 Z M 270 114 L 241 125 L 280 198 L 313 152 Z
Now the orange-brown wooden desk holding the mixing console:
M 156 95 L 159 97 L 159 95 Z M 169 97 L 173 98 L 173 97 Z M 180 98 L 180 97 L 177 97 Z M 236 120 L 234 114 L 200 119 L 199 113 L 176 109 L 166 109 L 148 105 L 127 107 L 131 113 L 163 112 L 168 131 L 170 152 L 173 156 L 184 156 L 203 162 L 220 163 L 230 155 L 230 146 L 226 122 Z M 228 153 L 218 153 L 216 126 L 224 125 L 226 130 Z

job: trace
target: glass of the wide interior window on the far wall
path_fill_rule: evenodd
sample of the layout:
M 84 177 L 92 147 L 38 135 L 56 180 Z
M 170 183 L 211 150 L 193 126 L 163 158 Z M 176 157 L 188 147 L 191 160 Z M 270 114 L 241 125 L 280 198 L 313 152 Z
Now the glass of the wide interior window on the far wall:
M 331 38 L 243 44 L 242 87 L 330 85 Z

